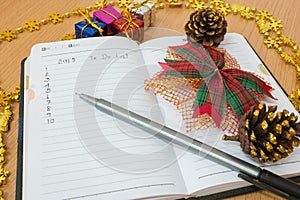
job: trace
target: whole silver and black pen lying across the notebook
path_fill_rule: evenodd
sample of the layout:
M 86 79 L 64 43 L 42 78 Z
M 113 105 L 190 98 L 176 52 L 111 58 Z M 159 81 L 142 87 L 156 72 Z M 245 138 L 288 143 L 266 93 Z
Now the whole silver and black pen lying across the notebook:
M 151 121 L 146 117 L 106 101 L 105 99 L 97 99 L 86 94 L 76 94 L 96 109 L 110 116 L 138 127 L 155 137 L 188 148 L 189 151 L 197 155 L 205 155 L 206 158 L 237 171 L 240 178 L 261 189 L 269 190 L 287 199 L 300 198 L 300 186 L 291 180 L 247 163 L 198 140 L 194 140 L 187 135 Z

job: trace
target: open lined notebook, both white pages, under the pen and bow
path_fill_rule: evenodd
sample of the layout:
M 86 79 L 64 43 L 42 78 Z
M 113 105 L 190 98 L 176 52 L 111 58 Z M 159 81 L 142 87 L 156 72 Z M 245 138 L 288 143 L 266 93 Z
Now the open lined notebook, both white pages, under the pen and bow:
M 166 48 L 185 37 L 166 37 L 141 45 L 123 37 L 102 37 L 35 45 L 24 67 L 23 199 L 139 199 L 207 196 L 249 186 L 237 173 L 140 129 L 118 121 L 75 93 L 101 97 L 184 132 L 181 114 L 144 90 L 144 81 L 160 71 Z M 251 46 L 227 34 L 220 47 L 242 69 L 270 82 L 279 100 L 264 99 L 297 113 Z M 194 138 L 260 165 L 237 142 L 223 141 L 218 129 Z M 262 167 L 299 175 L 300 149 Z M 20 189 L 20 188 L 19 188 Z M 241 190 L 242 191 L 242 190 Z M 225 194 L 225 193 L 224 193 Z

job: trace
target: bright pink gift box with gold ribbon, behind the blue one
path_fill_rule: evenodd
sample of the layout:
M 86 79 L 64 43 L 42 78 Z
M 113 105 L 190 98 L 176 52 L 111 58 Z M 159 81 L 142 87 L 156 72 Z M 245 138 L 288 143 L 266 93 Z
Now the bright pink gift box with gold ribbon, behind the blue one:
M 114 35 L 113 22 L 122 17 L 121 13 L 115 10 L 112 6 L 106 6 L 101 10 L 93 13 L 93 17 L 106 24 L 107 35 Z

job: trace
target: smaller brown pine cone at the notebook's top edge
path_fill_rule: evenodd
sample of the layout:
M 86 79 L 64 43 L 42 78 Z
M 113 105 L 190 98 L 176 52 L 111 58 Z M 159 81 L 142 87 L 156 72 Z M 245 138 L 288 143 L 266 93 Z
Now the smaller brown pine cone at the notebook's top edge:
M 226 27 L 227 22 L 220 12 L 202 9 L 190 15 L 184 28 L 190 41 L 217 47 L 224 39 Z

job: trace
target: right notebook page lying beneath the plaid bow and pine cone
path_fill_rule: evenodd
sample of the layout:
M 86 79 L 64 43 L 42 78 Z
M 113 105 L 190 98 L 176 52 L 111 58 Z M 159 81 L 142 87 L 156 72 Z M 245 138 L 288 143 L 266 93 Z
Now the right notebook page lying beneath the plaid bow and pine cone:
M 163 59 L 166 53 L 159 51 L 160 47 L 163 50 L 170 46 L 170 44 L 179 45 L 184 42 L 184 37 L 173 37 L 167 39 L 159 38 L 143 44 L 142 47 L 144 49 L 148 49 L 143 50 L 143 52 L 145 52 L 144 58 L 148 65 L 147 69 L 149 70 L 149 73 L 153 75 L 155 72 L 161 70 L 156 63 L 159 59 Z M 225 48 L 233 57 L 235 57 L 242 69 L 258 74 L 275 88 L 275 90 L 272 91 L 272 94 L 278 98 L 278 100 L 272 100 L 266 97 L 263 99 L 266 104 L 278 105 L 278 110 L 287 109 L 295 114 L 298 113 L 287 99 L 287 96 L 282 91 L 276 80 L 274 80 L 265 66 L 263 66 L 263 63 L 251 49 L 243 36 L 234 33 L 226 34 L 224 41 L 220 45 L 220 48 Z M 157 60 L 153 60 L 153 58 L 157 58 Z M 263 70 L 264 72 L 262 71 L 262 68 L 265 69 Z M 160 97 L 158 97 L 158 99 L 161 109 L 166 110 L 165 113 L 168 115 L 165 118 L 166 124 L 170 127 L 180 130 L 180 127 L 176 127 L 176 124 L 182 125 L 182 122 L 180 123 L 181 114 L 174 106 L 170 105 L 170 103 L 160 99 Z M 195 133 L 188 134 L 204 143 L 210 144 L 213 147 L 225 151 L 230 155 L 234 155 L 242 160 L 259 166 L 259 163 L 256 159 L 253 159 L 251 156 L 245 155 L 242 152 L 239 143 L 223 141 L 222 135 L 224 133 L 221 130 L 199 130 Z M 216 191 L 234 189 L 249 185 L 249 183 L 238 178 L 236 172 L 211 162 L 203 157 L 195 156 L 180 149 L 176 149 L 176 153 L 177 157 L 179 158 L 178 163 L 182 170 L 186 187 L 188 188 L 188 193 L 200 193 L 201 195 L 205 195 L 215 193 Z M 265 164 L 260 166 L 279 175 L 290 177 L 299 175 L 299 170 L 297 167 L 299 164 L 300 149 L 295 148 L 293 154 L 291 154 L 288 158 L 282 159 L 273 164 Z

